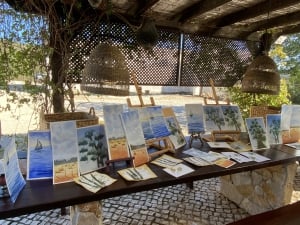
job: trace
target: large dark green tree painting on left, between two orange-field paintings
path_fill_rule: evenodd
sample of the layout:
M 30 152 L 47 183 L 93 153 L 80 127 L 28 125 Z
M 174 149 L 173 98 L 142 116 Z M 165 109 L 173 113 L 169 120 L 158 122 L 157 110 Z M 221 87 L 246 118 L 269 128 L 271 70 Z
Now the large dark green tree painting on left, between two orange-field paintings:
M 104 125 L 77 128 L 77 139 L 80 174 L 105 167 L 108 150 Z

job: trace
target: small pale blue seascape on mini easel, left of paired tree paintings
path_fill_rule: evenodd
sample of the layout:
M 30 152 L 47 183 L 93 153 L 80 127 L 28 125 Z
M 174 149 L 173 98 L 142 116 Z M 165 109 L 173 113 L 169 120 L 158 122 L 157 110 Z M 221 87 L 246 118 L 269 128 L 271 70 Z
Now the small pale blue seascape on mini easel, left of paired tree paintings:
M 188 133 L 204 132 L 204 115 L 201 104 L 185 104 Z

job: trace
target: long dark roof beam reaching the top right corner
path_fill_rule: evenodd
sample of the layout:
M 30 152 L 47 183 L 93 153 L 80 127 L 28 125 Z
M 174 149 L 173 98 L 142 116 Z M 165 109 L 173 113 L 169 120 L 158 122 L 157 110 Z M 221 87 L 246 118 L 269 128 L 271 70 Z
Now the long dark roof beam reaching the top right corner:
M 225 27 L 239 21 L 257 17 L 262 14 L 299 4 L 299 0 L 267 0 L 253 7 L 240 10 L 216 20 L 217 27 Z

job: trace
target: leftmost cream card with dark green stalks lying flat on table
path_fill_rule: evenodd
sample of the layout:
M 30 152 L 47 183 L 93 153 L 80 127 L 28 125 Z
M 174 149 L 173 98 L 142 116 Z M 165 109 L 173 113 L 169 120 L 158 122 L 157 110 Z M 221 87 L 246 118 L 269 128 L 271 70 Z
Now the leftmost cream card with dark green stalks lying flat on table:
M 76 177 L 74 178 L 74 181 L 88 191 L 96 193 L 102 188 L 116 182 L 117 180 L 111 178 L 106 174 L 95 171 L 92 173 L 81 175 L 80 177 Z

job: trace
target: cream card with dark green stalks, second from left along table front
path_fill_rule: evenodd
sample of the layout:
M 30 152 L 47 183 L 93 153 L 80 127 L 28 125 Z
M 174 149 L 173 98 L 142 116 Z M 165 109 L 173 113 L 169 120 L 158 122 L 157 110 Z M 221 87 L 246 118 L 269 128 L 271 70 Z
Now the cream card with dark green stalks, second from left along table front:
M 140 181 L 156 178 L 156 174 L 146 165 L 118 170 L 118 173 L 128 181 Z

